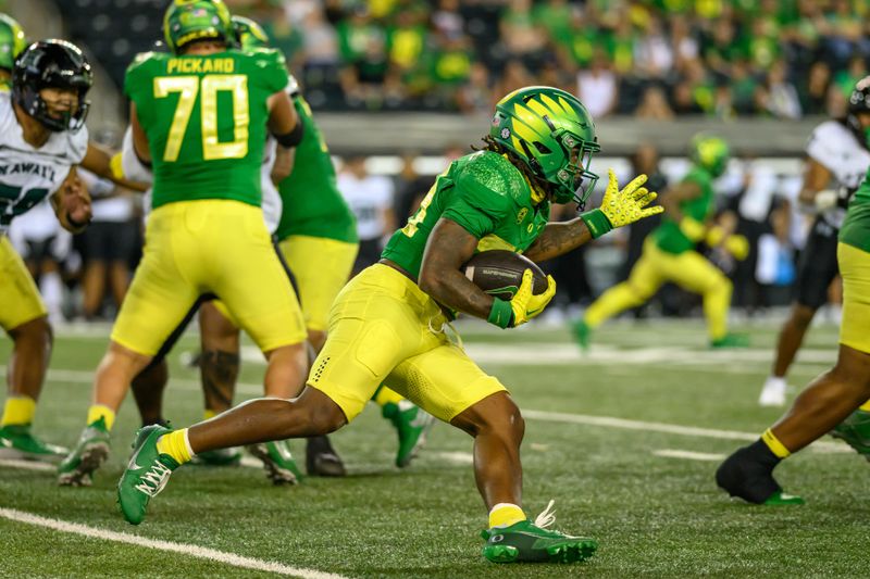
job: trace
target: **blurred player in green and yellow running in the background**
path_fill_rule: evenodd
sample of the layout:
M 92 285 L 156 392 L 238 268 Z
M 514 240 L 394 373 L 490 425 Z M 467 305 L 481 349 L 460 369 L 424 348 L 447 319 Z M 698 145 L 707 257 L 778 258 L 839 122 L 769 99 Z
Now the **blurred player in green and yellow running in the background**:
M 664 218 L 644 242 L 644 252 L 629 279 L 599 295 L 574 324 L 574 336 L 584 350 L 593 330 L 621 312 L 642 305 L 668 281 L 704 297 L 711 347 L 746 345 L 744 337 L 728 332 L 731 280 L 695 251 L 695 246 L 704 241 L 711 248 L 723 247 L 737 260 L 749 252 L 745 237 L 729 235 L 711 223 L 716 210 L 712 181 L 728 166 L 728 143 L 719 137 L 698 135 L 689 146 L 689 159 L 688 174 L 661 198 Z

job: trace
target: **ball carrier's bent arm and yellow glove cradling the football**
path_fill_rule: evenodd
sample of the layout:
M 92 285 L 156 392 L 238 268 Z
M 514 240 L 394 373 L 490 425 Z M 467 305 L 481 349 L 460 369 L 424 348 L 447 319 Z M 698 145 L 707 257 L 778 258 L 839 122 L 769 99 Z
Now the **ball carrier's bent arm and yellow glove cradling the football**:
M 524 324 L 544 311 L 556 294 L 556 281 L 548 276 L 544 293 L 532 294 L 532 270 L 526 269 L 511 301 L 484 293 L 462 272 L 480 240 L 458 223 L 442 217 L 426 240 L 420 266 L 420 289 L 438 303 L 486 319 L 501 328 Z

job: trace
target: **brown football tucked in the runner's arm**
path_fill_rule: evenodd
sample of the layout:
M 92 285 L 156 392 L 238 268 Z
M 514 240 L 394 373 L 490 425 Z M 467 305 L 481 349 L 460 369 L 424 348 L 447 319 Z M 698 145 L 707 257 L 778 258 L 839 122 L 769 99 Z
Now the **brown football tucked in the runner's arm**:
M 529 257 L 507 250 L 482 251 L 464 265 L 465 277 L 486 293 L 510 301 L 523 280 L 523 272 L 532 269 L 532 293 L 547 289 L 547 276 Z

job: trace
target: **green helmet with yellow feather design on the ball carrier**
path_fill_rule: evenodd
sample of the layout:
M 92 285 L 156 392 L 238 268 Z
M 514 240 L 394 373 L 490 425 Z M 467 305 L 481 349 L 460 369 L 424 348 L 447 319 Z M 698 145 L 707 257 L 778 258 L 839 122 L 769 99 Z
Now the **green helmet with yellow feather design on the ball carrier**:
M 573 200 L 583 206 L 598 180 L 589 171 L 593 153 L 601 150 L 595 123 L 570 92 L 552 87 L 514 90 L 496 104 L 489 136 L 550 184 L 556 203 Z

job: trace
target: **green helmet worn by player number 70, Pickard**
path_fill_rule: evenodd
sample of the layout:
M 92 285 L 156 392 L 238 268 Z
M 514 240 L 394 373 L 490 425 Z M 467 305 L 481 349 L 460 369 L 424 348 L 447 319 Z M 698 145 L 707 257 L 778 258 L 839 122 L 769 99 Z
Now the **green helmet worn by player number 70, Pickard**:
M 229 10 L 222 0 L 173 0 L 163 16 L 163 36 L 176 54 L 195 40 L 236 42 Z

